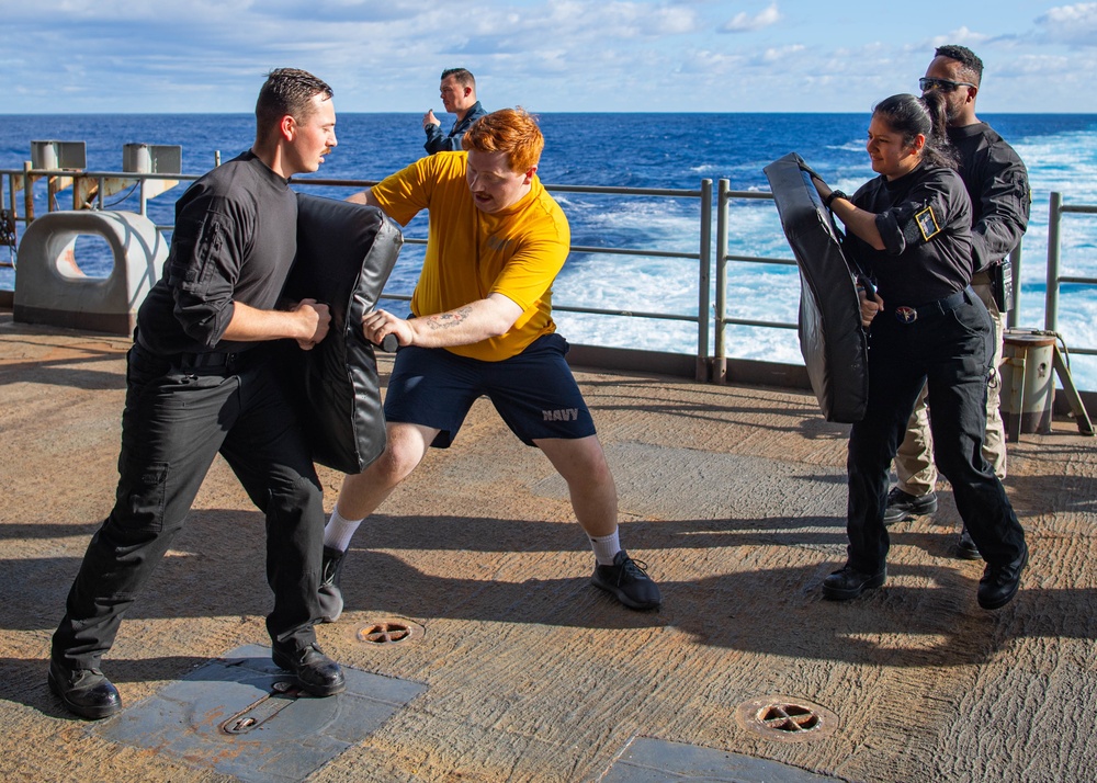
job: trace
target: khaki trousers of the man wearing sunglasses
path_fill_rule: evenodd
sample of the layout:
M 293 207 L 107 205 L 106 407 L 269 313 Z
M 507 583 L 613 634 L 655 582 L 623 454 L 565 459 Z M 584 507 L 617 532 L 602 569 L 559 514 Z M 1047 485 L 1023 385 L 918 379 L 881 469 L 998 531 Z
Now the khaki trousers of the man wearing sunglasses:
M 998 393 L 1002 390 L 1002 340 L 1005 334 L 1006 318 L 998 311 L 991 293 L 991 280 L 985 272 L 976 273 L 971 280 L 975 295 L 983 300 L 994 321 L 994 363 L 991 381 L 986 387 L 986 434 L 983 438 L 983 458 L 986 459 L 998 479 L 1006 477 L 1006 432 L 998 409 Z M 906 425 L 906 435 L 895 454 L 895 474 L 898 488 L 920 498 L 937 486 L 937 466 L 934 465 L 934 436 L 929 432 L 929 412 L 926 407 L 926 389 L 921 389 L 914 412 Z

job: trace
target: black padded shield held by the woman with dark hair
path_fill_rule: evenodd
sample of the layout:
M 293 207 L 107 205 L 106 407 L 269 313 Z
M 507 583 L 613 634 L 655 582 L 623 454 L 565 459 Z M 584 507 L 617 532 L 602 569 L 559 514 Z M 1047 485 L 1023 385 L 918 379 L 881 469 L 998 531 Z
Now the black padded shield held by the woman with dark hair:
M 841 235 L 795 152 L 764 170 L 800 268 L 800 350 L 827 421 L 864 416 L 868 340 Z

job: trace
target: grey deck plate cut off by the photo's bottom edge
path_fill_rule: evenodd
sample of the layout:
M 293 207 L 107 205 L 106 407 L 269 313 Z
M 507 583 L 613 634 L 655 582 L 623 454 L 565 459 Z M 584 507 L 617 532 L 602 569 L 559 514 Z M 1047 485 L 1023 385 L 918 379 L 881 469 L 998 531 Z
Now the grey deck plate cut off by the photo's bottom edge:
M 715 783 L 842 783 L 779 761 L 756 759 L 695 745 L 637 737 L 610 764 L 601 783 L 665 783 L 710 781 Z

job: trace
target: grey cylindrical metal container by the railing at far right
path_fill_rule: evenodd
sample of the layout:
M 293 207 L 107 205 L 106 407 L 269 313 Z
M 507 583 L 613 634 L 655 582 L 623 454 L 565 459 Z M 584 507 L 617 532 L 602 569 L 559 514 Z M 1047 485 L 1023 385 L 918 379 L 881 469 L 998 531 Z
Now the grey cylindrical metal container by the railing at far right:
M 1007 329 L 1002 348 L 1002 421 L 1010 440 L 1022 432 L 1051 432 L 1055 402 L 1055 338 Z

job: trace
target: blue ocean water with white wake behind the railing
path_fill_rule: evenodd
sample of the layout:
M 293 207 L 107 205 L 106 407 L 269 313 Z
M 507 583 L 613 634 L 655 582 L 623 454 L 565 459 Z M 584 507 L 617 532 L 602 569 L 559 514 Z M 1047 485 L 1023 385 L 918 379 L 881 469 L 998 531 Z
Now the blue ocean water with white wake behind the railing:
M 1048 204 L 1052 191 L 1066 204 L 1097 204 L 1097 115 L 984 115 L 1025 160 L 1032 186 L 1032 218 L 1024 240 L 1019 326 L 1043 328 L 1047 294 Z M 833 185 L 852 191 L 873 173 L 864 152 L 866 114 L 544 114 L 546 138 L 541 178 L 550 186 L 608 185 L 697 190 L 702 179 L 727 179 L 733 191 L 768 191 L 762 168 L 799 152 Z M 8 115 L 0 116 L 0 170 L 22 169 L 31 141 L 84 141 L 88 168 L 118 171 L 123 145 L 180 145 L 183 171 L 212 168 L 253 138 L 251 115 Z M 340 114 L 339 146 L 321 170 L 301 178 L 378 180 L 423 155 L 417 114 Z M 149 202 L 157 223 L 173 220 L 173 203 L 185 183 Z M 338 188 L 301 186 L 343 197 Z M 5 184 L 5 198 L 9 197 Z M 108 200 L 136 208 L 136 198 Z M 573 243 L 592 247 L 697 252 L 697 200 L 557 194 L 572 225 Z M 68 202 L 66 202 L 68 200 Z M 58 196 L 63 208 L 68 192 Z M 45 211 L 45 189 L 36 191 Z M 10 206 L 10 204 L 8 204 Z M 770 201 L 733 200 L 730 251 L 791 259 Z M 715 229 L 715 226 L 713 227 Z M 425 217 L 406 230 L 426 234 Z M 81 239 L 77 254 L 89 273 L 102 273 L 97 253 Z M 1097 215 L 1067 215 L 1062 224 L 1062 274 L 1097 276 Z M 8 250 L 0 248 L 0 256 Z M 410 293 L 422 261 L 421 247 L 405 246 L 388 291 Z M 713 270 L 714 271 L 714 270 Z M 698 268 L 690 260 L 573 253 L 554 285 L 556 305 L 693 316 Z M 11 270 L 0 269 L 0 288 L 11 288 Z M 794 266 L 732 263 L 728 316 L 794 322 L 800 282 Z M 406 310 L 404 303 L 391 308 Z M 573 342 L 692 353 L 697 327 L 686 321 L 557 313 Z M 1059 331 L 1067 345 L 1097 348 L 1097 288 L 1066 285 L 1060 295 Z M 801 364 L 794 330 L 728 327 L 730 356 Z M 710 338 L 711 339 L 711 338 Z M 711 345 L 711 343 L 710 343 Z M 1072 356 L 1079 388 L 1097 389 L 1097 358 Z

